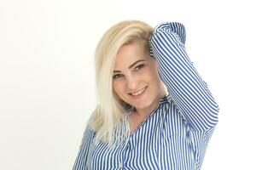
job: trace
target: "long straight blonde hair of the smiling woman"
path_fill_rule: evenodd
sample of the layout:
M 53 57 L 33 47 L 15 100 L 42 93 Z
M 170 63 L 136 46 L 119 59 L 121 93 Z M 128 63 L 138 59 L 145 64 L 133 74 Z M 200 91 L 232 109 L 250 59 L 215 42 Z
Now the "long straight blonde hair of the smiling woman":
M 119 48 L 125 44 L 140 40 L 149 52 L 148 37 L 152 31 L 153 27 L 143 21 L 125 20 L 109 28 L 98 43 L 95 54 L 98 104 L 89 122 L 96 131 L 96 142 L 102 140 L 113 144 L 114 133 L 119 134 L 119 140 L 129 134 L 129 127 L 124 128 L 119 124 L 128 104 L 113 92 L 113 66 Z M 125 126 L 128 126 L 127 122 Z

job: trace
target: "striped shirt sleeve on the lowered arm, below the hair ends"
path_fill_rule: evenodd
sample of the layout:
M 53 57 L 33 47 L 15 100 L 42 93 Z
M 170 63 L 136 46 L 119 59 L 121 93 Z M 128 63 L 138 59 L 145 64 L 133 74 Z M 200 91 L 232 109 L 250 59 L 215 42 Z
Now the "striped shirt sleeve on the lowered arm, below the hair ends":
M 92 143 L 94 136 L 95 136 L 95 133 L 87 125 L 87 127 L 84 130 L 82 144 L 80 144 L 80 147 L 79 147 L 79 154 L 76 157 L 76 160 L 73 165 L 73 170 L 87 169 L 86 167 L 87 167 L 87 159 L 88 159 L 90 144 Z

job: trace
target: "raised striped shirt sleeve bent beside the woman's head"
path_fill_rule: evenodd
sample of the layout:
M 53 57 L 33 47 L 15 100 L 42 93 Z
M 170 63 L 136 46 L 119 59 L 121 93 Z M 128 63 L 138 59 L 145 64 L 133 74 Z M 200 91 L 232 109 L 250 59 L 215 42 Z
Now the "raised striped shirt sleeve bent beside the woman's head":
M 202 132 L 218 122 L 218 105 L 186 53 L 185 37 L 181 23 L 161 23 L 149 37 L 150 55 L 178 111 L 191 129 Z

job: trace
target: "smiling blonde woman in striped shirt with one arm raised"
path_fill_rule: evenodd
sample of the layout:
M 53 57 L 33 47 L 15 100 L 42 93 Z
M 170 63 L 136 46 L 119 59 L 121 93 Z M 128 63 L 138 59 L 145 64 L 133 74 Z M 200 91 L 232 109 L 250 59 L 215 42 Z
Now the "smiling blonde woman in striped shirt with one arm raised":
M 73 169 L 201 169 L 218 105 L 180 23 L 111 27 L 96 48 L 98 106 Z

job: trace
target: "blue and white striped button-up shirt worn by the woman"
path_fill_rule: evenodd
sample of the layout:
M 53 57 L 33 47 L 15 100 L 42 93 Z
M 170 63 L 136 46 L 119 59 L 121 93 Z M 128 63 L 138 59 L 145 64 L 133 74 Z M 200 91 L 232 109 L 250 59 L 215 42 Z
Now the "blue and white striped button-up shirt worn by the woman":
M 150 54 L 168 94 L 125 141 L 108 150 L 94 144 L 95 132 L 86 127 L 73 170 L 198 170 L 218 122 L 213 99 L 185 47 L 185 29 L 177 22 L 154 28 Z M 127 127 L 126 119 L 120 120 Z

